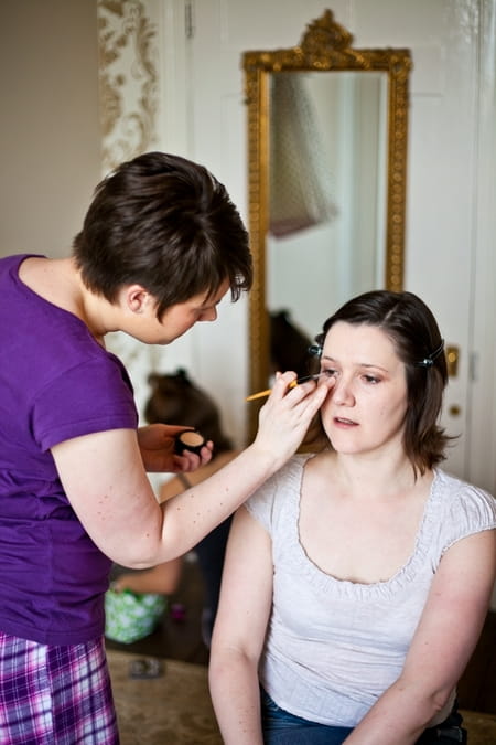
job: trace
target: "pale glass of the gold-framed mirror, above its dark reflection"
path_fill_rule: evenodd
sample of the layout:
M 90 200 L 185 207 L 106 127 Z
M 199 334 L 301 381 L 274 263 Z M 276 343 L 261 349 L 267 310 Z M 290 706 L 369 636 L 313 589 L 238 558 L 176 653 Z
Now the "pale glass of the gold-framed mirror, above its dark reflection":
M 269 110 L 267 307 L 312 338 L 384 286 L 387 75 L 274 73 Z

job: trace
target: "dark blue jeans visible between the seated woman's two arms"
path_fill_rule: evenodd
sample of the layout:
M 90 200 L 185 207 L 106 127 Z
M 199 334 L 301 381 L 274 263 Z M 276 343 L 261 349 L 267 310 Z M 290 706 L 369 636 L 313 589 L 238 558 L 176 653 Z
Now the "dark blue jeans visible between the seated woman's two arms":
M 341 745 L 352 727 L 332 727 L 309 722 L 284 711 L 261 691 L 265 745 Z

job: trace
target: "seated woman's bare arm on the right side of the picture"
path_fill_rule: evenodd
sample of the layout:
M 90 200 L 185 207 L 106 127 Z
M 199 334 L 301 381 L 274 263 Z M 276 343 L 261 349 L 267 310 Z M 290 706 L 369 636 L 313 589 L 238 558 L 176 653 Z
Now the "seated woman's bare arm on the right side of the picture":
M 474 651 L 495 581 L 496 532 L 446 551 L 399 679 L 346 745 L 412 745 L 442 711 Z

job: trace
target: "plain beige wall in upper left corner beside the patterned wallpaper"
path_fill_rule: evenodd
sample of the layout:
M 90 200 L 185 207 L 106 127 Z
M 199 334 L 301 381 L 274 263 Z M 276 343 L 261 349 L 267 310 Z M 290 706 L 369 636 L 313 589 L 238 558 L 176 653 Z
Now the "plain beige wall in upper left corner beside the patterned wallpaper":
M 1 0 L 0 92 L 0 255 L 66 255 L 100 174 L 96 0 Z

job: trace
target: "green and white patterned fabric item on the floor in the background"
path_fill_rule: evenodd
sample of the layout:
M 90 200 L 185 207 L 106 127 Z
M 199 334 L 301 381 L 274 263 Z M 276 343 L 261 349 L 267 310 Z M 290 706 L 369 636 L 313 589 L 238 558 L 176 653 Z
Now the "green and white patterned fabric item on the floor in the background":
M 123 645 L 143 639 L 152 634 L 166 607 L 165 595 L 109 589 L 105 595 L 105 636 Z

